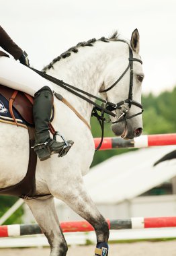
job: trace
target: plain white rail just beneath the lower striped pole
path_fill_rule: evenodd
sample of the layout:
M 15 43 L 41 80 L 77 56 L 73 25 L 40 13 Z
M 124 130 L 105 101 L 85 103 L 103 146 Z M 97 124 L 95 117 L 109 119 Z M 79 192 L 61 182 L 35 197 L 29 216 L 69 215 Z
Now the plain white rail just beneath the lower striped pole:
M 96 243 L 95 232 L 64 234 L 68 245 L 86 245 L 87 241 Z M 176 228 L 148 228 L 138 230 L 111 230 L 109 241 L 130 241 L 155 238 L 176 238 Z M 44 234 L 0 238 L 0 248 L 49 247 Z

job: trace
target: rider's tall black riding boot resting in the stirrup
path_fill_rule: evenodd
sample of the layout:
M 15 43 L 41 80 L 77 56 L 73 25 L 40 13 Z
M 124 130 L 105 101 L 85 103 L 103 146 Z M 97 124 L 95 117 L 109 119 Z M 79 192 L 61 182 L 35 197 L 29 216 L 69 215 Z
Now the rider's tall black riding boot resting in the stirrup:
M 50 138 L 49 123 L 52 112 L 53 95 L 48 86 L 42 87 L 34 95 L 34 123 L 36 129 L 34 151 L 38 155 L 40 161 L 44 161 L 52 154 L 64 156 L 67 154 L 73 141 L 58 142 Z

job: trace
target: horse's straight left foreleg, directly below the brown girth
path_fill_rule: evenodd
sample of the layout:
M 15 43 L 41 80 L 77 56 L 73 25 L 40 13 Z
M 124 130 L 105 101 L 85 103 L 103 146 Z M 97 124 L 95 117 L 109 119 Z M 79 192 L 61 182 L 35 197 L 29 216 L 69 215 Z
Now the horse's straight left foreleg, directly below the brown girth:
M 68 247 L 62 230 L 60 230 L 53 197 L 25 200 L 25 202 L 48 239 L 51 249 L 50 256 L 65 256 Z

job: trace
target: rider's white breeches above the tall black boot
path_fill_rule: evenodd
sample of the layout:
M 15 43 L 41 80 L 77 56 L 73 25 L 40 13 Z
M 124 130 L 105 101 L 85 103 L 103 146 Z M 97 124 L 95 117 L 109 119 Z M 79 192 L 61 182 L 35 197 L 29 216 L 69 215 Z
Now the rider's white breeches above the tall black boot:
M 50 82 L 15 59 L 0 57 L 0 84 L 15 90 L 26 92 L 31 96 Z

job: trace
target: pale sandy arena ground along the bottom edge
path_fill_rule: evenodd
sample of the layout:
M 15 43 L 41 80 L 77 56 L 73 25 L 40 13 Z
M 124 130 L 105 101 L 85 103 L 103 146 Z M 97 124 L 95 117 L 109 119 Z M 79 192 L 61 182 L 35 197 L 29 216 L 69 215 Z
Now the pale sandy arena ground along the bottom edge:
M 67 256 L 93 256 L 95 247 L 72 246 Z M 0 249 L 0 256 L 49 256 L 50 249 Z M 175 256 L 176 241 L 110 245 L 109 256 Z

